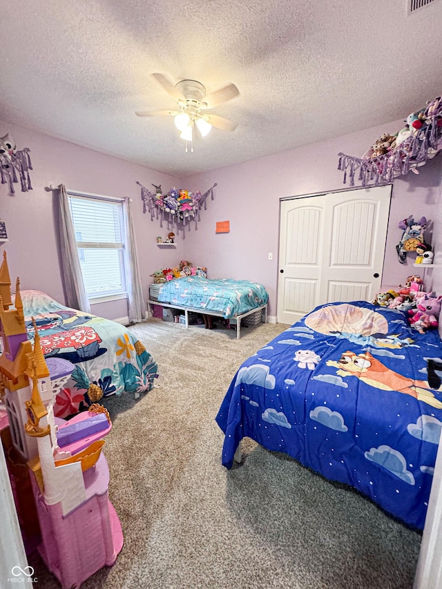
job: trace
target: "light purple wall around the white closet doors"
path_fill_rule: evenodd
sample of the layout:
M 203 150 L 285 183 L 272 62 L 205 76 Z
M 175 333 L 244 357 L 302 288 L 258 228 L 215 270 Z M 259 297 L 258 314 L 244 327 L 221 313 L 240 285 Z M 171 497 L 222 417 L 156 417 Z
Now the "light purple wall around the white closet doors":
M 396 121 L 187 178 L 189 189 L 202 190 L 213 182 L 218 186 L 198 231 L 186 238 L 186 258 L 204 263 L 212 278 L 262 282 L 269 291 L 269 314 L 276 315 L 280 198 L 345 188 L 343 173 L 337 170 L 338 153 L 361 156 L 382 133 L 394 133 L 402 126 Z M 403 283 L 414 273 L 411 258 L 404 266 L 397 260 L 395 245 L 402 235 L 398 222 L 410 214 L 432 218 L 439 175 L 436 157 L 419 175 L 394 180 L 383 284 Z M 230 221 L 230 233 L 216 235 L 215 222 L 224 220 Z M 308 247 L 308 240 L 301 238 L 300 247 Z

